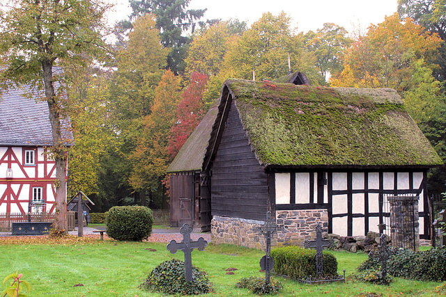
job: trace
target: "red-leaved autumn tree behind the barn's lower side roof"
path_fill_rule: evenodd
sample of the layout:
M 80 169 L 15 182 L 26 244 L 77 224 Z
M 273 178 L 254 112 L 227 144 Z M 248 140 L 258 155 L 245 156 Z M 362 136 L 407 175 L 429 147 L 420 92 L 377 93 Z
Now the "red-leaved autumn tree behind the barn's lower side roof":
M 182 99 L 176 108 L 176 123 L 171 128 L 169 136 L 168 152 L 172 159 L 206 113 L 203 93 L 207 82 L 206 74 L 194 72 L 190 77 L 189 86 L 181 95 Z

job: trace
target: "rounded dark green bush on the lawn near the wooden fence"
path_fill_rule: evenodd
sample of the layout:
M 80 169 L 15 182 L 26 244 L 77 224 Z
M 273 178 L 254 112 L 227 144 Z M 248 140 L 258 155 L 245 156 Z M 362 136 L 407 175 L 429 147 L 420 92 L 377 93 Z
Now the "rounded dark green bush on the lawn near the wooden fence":
M 140 206 L 112 207 L 105 215 L 107 235 L 118 241 L 142 241 L 151 236 L 151 209 Z

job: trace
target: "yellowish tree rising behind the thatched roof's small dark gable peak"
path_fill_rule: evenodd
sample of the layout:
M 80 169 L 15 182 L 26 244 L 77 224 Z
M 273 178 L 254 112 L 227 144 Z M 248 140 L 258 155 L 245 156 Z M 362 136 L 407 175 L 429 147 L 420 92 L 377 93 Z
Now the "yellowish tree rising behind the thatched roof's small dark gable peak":
M 352 42 L 344 27 L 332 23 L 323 24 L 316 33 L 309 31 L 305 34 L 305 47 L 316 58 L 323 79 L 328 79 L 328 74 L 342 71 L 344 56 Z

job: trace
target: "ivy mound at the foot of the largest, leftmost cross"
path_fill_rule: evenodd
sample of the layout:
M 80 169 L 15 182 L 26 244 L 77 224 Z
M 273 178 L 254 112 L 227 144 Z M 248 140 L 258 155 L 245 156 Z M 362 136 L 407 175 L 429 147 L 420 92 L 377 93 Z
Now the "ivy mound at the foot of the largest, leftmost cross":
M 153 268 L 141 288 L 166 294 L 206 294 L 212 291 L 207 274 L 192 266 L 192 282 L 186 282 L 184 261 L 171 259 Z

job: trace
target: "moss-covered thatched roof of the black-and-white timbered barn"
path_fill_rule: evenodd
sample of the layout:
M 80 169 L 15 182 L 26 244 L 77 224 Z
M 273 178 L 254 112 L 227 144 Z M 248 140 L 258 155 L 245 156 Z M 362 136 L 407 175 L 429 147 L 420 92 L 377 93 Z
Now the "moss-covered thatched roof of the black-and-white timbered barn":
M 228 91 L 264 166 L 424 168 L 442 164 L 395 90 L 229 79 L 222 93 Z M 215 122 L 213 130 L 217 126 Z M 208 154 L 213 154 L 211 147 L 210 143 Z

